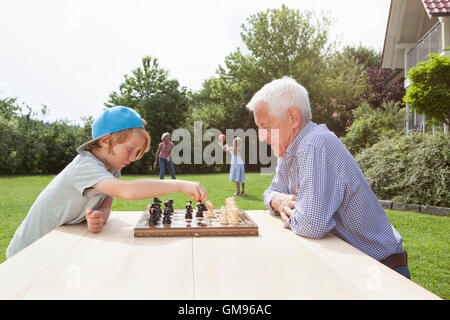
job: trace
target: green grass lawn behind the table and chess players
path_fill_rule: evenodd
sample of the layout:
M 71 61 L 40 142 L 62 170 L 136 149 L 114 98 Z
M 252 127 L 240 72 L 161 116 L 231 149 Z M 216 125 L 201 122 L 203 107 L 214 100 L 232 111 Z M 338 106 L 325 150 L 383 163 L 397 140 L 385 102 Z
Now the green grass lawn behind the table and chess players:
M 6 248 L 16 228 L 25 218 L 28 209 L 39 193 L 54 176 L 9 176 L 0 177 L 0 263 L 5 258 Z M 123 176 L 124 180 L 152 178 L 153 176 Z M 178 179 L 199 181 L 208 190 L 208 199 L 216 207 L 235 192 L 235 184 L 228 181 L 228 174 L 178 175 Z M 262 194 L 269 186 L 272 176 L 258 173 L 246 174 L 245 197 L 236 197 L 237 205 L 247 210 L 265 209 Z M 188 200 L 182 194 L 160 197 L 163 201 L 174 199 L 176 209 L 184 208 Z M 140 211 L 146 208 L 147 200 L 114 200 L 113 210 Z M 450 220 L 416 212 L 387 210 L 390 221 L 402 235 L 408 251 L 409 269 L 414 282 L 436 295 L 450 299 Z

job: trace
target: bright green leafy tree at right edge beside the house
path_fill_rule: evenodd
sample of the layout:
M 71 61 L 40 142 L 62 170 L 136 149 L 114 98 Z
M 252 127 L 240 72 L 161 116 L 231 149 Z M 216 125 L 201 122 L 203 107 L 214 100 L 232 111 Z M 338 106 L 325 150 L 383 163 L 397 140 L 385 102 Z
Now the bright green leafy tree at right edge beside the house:
M 450 57 L 435 53 L 428 56 L 428 61 L 409 70 L 411 86 L 403 101 L 431 121 L 450 125 Z

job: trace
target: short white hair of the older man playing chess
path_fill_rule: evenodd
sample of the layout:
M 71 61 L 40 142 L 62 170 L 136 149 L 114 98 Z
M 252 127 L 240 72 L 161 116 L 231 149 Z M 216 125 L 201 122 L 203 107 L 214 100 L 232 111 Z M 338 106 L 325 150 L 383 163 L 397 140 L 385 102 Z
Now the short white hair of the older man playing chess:
M 258 102 L 264 101 L 269 105 L 273 115 L 284 120 L 289 108 L 298 108 L 303 123 L 311 120 L 311 106 L 308 91 L 291 77 L 283 77 L 266 84 L 247 104 L 247 109 L 253 111 Z

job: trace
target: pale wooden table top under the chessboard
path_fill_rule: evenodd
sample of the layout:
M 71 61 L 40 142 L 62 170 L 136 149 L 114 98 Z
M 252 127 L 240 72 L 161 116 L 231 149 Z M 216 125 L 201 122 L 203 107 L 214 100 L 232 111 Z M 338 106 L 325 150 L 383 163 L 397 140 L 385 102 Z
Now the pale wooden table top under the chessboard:
M 333 235 L 246 212 L 258 236 L 135 238 L 130 211 L 96 234 L 62 226 L 0 264 L 0 299 L 440 299 Z

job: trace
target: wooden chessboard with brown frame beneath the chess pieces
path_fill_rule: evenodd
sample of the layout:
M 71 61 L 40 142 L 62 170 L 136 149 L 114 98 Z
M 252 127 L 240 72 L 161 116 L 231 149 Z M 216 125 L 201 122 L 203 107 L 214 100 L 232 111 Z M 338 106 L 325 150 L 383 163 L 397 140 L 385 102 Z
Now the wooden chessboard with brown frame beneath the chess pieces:
M 182 210 L 175 210 L 175 214 L 183 215 Z M 155 226 L 149 226 L 148 210 L 144 211 L 134 227 L 135 237 L 192 237 L 192 236 L 257 236 L 258 225 L 247 215 L 247 213 L 239 209 L 239 225 L 231 223 L 222 225 L 218 222 L 220 213 L 215 210 L 216 217 L 210 222 L 206 217 L 198 220 L 193 213 L 190 225 L 185 223 L 164 225 L 159 223 Z M 206 215 L 206 212 L 205 212 Z

